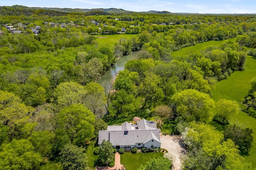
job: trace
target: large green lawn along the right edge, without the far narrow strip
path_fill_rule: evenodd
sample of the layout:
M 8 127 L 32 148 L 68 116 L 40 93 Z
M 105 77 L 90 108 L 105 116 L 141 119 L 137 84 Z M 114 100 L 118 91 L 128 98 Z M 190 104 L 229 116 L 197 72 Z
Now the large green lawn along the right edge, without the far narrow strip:
M 235 71 L 228 79 L 216 83 L 215 89 L 212 90 L 212 99 L 215 102 L 219 99 L 236 100 L 240 107 L 245 108 L 241 101 L 248 93 L 251 79 L 256 76 L 256 60 L 247 56 L 245 67 L 245 71 Z M 256 168 L 256 119 L 240 111 L 232 118 L 231 123 L 252 128 L 254 141 L 249 156 L 245 156 L 245 158 L 246 161 L 252 163 L 253 168 Z

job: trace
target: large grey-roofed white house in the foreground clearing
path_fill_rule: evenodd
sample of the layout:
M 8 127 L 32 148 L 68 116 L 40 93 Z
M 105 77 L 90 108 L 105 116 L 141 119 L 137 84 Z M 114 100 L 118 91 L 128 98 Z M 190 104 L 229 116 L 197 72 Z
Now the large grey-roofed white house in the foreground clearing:
M 154 121 L 142 119 L 133 125 L 128 122 L 120 126 L 108 126 L 107 130 L 99 131 L 99 146 L 102 140 L 108 140 L 114 148 L 155 148 L 161 146 L 159 130 Z

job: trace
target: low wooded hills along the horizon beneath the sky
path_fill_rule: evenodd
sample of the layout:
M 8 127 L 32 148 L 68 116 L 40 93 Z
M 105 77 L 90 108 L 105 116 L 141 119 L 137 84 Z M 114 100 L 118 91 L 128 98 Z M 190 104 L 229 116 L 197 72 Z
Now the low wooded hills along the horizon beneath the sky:
M 59 11 L 59 12 L 92 12 L 92 11 L 102 11 L 102 12 L 107 12 L 107 13 L 136 13 L 133 11 L 127 11 L 123 9 L 118 9 L 118 8 L 93 8 L 93 9 L 81 9 L 81 8 L 46 8 L 46 7 L 27 7 L 27 6 L 22 6 L 22 5 L 13 5 L 13 6 L 8 6 L 10 8 L 14 9 L 26 9 L 26 10 L 54 10 L 54 11 Z M 170 14 L 168 11 L 147 11 L 147 12 L 140 12 L 140 13 L 154 13 L 154 14 Z

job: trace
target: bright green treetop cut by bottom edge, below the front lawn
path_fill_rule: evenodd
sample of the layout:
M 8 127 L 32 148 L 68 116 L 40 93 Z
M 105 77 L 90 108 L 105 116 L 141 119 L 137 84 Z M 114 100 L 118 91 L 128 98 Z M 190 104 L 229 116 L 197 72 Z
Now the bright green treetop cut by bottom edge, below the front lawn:
M 168 158 L 158 157 L 150 158 L 145 165 L 141 165 L 139 170 L 171 170 L 172 163 Z

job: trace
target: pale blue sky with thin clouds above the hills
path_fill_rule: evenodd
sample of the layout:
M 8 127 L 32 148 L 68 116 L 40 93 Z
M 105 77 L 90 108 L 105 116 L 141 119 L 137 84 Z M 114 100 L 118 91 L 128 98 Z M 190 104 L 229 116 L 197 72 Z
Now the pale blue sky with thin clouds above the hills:
M 256 13 L 256 0 L 0 0 L 12 5 L 57 8 L 122 8 L 130 11 L 169 11 L 212 14 Z

